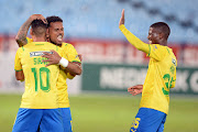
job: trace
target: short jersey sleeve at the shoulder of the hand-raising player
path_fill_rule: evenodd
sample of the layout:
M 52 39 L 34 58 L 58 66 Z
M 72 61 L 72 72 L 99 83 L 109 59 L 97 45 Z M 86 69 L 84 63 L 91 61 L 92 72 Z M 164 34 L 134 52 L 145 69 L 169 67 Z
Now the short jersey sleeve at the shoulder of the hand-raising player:
M 155 61 L 162 61 L 167 52 L 168 48 L 166 46 L 150 44 L 150 52 L 147 53 L 147 56 L 154 58 Z

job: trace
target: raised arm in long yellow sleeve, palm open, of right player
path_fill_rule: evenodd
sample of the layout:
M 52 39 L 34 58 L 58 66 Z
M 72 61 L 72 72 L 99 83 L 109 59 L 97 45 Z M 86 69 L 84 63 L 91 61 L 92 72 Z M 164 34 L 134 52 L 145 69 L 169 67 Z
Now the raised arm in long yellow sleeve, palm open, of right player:
M 127 37 L 127 40 L 134 46 L 136 47 L 139 51 L 142 51 L 146 54 L 150 53 L 150 46 L 148 44 L 142 42 L 140 38 L 138 38 L 135 35 L 133 35 L 130 31 L 128 31 L 128 29 L 124 26 L 124 9 L 122 10 L 122 15 L 120 18 L 120 22 L 119 22 L 119 29 L 121 30 L 121 32 L 124 34 L 124 36 Z

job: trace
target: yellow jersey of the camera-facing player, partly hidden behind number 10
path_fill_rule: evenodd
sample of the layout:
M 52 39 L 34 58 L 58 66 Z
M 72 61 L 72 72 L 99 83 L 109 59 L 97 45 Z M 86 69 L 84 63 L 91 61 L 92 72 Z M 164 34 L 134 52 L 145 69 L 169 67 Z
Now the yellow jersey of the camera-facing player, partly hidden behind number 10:
M 74 48 L 72 44 L 63 43 L 62 44 L 63 50 L 63 57 L 66 58 L 68 62 L 79 62 L 80 59 L 78 57 L 78 53 Z M 66 79 L 73 78 L 73 76 L 68 74 L 65 74 L 64 69 L 59 70 L 59 76 L 57 80 L 57 89 L 58 89 L 58 105 L 59 108 L 68 108 L 69 107 L 69 99 L 68 99 L 68 92 L 67 92 L 67 84 Z

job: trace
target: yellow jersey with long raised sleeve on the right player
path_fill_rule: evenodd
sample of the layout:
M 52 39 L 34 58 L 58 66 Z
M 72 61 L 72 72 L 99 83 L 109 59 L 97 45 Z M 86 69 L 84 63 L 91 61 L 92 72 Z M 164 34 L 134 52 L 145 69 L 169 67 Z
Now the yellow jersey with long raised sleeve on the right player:
M 175 87 L 177 61 L 167 46 L 160 44 L 145 44 L 125 29 L 120 30 L 128 41 L 150 57 L 147 75 L 143 85 L 140 108 L 151 108 L 168 113 L 169 88 Z

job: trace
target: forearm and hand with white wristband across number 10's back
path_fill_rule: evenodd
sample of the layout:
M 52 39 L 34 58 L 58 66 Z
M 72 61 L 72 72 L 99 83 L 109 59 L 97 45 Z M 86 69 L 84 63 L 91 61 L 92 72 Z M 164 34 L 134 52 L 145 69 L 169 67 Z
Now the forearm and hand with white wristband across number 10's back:
M 75 63 L 68 62 L 67 59 L 61 57 L 58 53 L 55 52 L 54 50 L 52 50 L 51 52 L 53 52 L 53 54 L 43 53 L 44 55 L 42 55 L 42 57 L 48 58 L 48 59 L 43 61 L 43 62 L 48 62 L 46 66 L 58 64 L 67 68 L 69 73 L 72 73 L 73 75 L 81 75 L 81 66 Z

